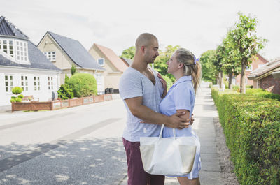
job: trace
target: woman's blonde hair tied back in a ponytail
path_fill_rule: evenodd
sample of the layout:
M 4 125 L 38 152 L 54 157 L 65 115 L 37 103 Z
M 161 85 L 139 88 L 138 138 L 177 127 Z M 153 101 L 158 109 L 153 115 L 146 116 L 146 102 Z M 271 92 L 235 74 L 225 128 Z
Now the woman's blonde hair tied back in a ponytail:
M 176 59 L 184 64 L 184 75 L 192 76 L 193 88 L 195 89 L 196 94 L 202 78 L 200 61 L 195 58 L 195 55 L 192 52 L 185 48 L 179 48 L 176 50 Z

